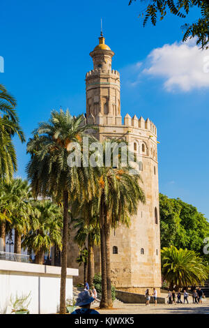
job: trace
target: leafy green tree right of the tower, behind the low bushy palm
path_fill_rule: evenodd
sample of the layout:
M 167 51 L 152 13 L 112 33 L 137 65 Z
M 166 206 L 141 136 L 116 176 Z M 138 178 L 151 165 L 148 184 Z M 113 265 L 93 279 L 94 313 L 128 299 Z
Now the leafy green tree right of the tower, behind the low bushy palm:
M 203 255 L 203 239 L 209 237 L 209 223 L 196 207 L 179 198 L 160 194 L 161 246 L 187 248 Z

